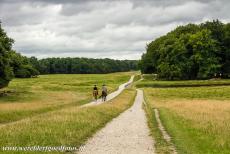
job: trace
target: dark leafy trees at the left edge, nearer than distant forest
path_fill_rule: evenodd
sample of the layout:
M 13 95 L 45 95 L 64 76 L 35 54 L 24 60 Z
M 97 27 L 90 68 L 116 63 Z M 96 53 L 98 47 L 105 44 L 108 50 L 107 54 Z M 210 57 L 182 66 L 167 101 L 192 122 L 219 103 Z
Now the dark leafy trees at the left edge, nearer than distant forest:
M 14 76 L 28 78 L 39 74 L 27 57 L 12 50 L 13 43 L 0 22 L 0 88 L 6 87 Z

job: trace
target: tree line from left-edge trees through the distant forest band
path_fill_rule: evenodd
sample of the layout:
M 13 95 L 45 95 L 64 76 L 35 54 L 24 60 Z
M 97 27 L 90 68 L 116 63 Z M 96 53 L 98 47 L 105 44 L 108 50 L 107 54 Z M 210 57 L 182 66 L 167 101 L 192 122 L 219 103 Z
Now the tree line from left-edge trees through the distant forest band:
M 124 72 L 138 69 L 136 60 L 92 58 L 26 57 L 12 50 L 14 40 L 7 36 L 0 22 L 0 88 L 12 78 L 30 78 L 39 74 L 93 74 Z

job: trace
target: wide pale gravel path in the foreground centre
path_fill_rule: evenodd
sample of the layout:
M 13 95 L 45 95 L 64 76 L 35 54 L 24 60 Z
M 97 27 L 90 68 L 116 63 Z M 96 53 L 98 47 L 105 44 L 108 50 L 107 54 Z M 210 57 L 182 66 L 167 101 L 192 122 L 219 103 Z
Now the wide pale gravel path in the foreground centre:
M 80 149 L 80 154 L 153 154 L 153 139 L 142 109 L 143 91 L 133 106 L 113 119 Z

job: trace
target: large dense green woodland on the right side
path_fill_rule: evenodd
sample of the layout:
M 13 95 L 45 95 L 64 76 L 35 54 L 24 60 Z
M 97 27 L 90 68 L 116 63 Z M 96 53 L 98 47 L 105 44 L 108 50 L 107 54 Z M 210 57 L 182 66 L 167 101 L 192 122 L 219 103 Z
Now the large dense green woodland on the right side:
M 188 24 L 146 47 L 140 68 L 159 79 L 209 79 L 230 75 L 230 24 Z

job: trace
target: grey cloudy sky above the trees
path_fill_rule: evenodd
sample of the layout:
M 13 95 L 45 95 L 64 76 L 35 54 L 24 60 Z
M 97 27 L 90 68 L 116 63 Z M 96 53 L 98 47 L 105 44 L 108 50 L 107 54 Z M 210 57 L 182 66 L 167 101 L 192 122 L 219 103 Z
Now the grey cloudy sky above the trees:
M 0 20 L 23 55 L 139 59 L 178 25 L 230 21 L 229 0 L 0 0 Z

